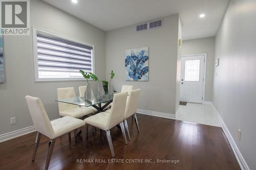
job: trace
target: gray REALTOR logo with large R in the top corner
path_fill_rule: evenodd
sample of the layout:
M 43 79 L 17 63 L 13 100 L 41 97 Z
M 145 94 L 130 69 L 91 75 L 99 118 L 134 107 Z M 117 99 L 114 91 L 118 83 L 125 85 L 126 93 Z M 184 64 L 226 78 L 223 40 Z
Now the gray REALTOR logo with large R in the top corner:
M 1 0 L 1 33 L 29 35 L 29 0 Z

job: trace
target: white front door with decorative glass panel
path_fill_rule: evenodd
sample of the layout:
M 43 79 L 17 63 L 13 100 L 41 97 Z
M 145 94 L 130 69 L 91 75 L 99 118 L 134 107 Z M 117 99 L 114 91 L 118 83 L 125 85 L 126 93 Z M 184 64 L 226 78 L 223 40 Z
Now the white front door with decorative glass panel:
M 202 103 L 204 55 L 181 57 L 180 101 Z

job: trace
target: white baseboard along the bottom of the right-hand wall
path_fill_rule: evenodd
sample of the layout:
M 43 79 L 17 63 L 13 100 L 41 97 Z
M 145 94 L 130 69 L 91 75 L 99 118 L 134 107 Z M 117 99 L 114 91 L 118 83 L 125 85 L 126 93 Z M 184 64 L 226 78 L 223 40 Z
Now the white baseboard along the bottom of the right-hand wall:
M 222 130 L 224 131 L 228 141 L 229 141 L 229 144 L 231 145 L 231 148 L 233 150 L 233 153 L 234 155 L 236 156 L 237 160 L 238 160 L 238 163 L 241 167 L 242 170 L 250 170 L 249 166 L 247 165 L 247 163 L 245 162 L 244 160 L 244 157 L 243 155 L 241 154 L 241 152 L 239 151 L 238 147 L 237 147 L 237 144 L 236 142 L 234 142 L 234 139 L 233 137 L 231 136 L 230 132 L 228 131 L 223 119 L 221 118 L 219 112 L 217 111 L 217 109 L 215 108 L 215 106 L 211 103 L 211 105 L 213 106 L 214 110 L 215 110 L 215 113 L 217 115 L 217 118 L 221 124 L 221 127 L 222 127 Z

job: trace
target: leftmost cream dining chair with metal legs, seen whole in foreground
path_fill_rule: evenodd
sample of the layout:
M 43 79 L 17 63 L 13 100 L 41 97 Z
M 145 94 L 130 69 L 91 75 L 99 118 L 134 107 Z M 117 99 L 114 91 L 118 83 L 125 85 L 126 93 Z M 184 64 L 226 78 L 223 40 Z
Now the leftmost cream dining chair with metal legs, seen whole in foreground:
M 26 101 L 28 104 L 29 112 L 32 117 L 35 129 L 37 131 L 35 148 L 32 156 L 32 161 L 35 160 L 36 151 L 40 142 L 41 134 L 45 135 L 50 139 L 49 150 L 47 155 L 47 161 L 45 169 L 48 169 L 50 160 L 52 157 L 52 152 L 57 137 L 70 133 L 77 128 L 82 128 L 82 140 L 83 148 L 85 142 L 85 123 L 81 119 L 73 118 L 70 116 L 64 116 L 50 122 L 50 119 L 46 113 L 45 107 L 39 98 L 34 98 L 32 96 L 26 95 Z

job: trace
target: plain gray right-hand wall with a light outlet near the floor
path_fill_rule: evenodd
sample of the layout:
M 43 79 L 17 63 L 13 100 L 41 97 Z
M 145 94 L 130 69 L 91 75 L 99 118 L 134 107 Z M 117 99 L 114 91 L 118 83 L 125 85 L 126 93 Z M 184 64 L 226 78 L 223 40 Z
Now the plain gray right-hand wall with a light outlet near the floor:
M 213 102 L 250 169 L 256 169 L 256 1 L 230 1 L 216 36 Z M 238 129 L 241 139 L 238 139 Z

